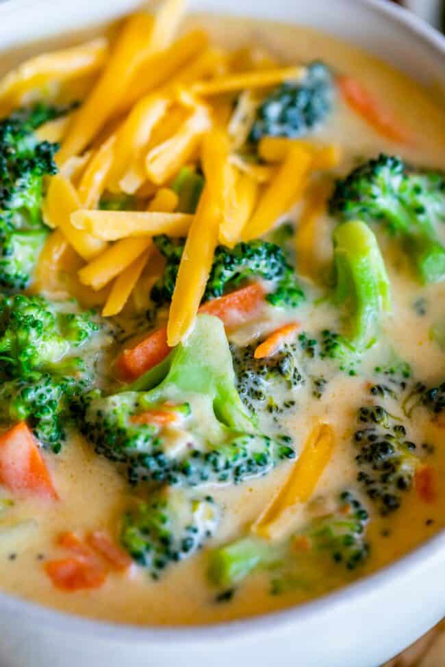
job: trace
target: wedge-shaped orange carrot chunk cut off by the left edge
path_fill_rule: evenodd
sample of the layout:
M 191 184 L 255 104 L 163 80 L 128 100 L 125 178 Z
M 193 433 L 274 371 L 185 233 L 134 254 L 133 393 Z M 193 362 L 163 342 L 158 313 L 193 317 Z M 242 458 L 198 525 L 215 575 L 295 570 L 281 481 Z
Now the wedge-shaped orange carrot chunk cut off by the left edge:
M 37 441 L 25 421 L 0 435 L 0 484 L 14 493 L 58 499 Z

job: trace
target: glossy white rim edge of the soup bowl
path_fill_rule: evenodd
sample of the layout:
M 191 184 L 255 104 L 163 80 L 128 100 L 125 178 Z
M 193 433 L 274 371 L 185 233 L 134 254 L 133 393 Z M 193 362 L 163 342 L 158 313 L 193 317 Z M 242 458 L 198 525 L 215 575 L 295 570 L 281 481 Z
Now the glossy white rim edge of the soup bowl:
M 332 0 L 331 0 L 332 1 Z M 338 0 L 335 0 L 338 1 Z M 403 25 L 417 39 L 422 40 L 429 47 L 433 47 L 439 54 L 445 55 L 445 37 L 435 28 L 418 18 L 400 5 L 385 2 L 384 0 L 351 0 L 363 5 L 378 16 L 387 17 L 393 23 Z M 8 0 L 0 5 L 0 18 L 21 12 L 25 7 L 34 5 L 36 0 Z M 11 10 L 11 11 L 8 11 Z M 38 620 L 40 627 L 66 633 L 82 633 L 94 635 L 101 640 L 119 642 L 142 642 L 151 644 L 166 644 L 166 642 L 211 643 L 221 639 L 237 640 L 240 636 L 252 636 L 258 633 L 272 632 L 278 627 L 283 628 L 292 623 L 301 623 L 303 620 L 320 616 L 333 607 L 351 605 L 355 600 L 366 597 L 374 590 L 387 584 L 391 579 L 406 577 L 420 564 L 426 566 L 434 562 L 438 556 L 445 557 L 445 529 L 422 542 L 415 549 L 403 557 L 379 568 L 379 570 L 365 577 L 342 586 L 338 590 L 324 594 L 314 600 L 284 609 L 264 612 L 255 616 L 248 616 L 235 620 L 222 621 L 209 625 L 136 625 L 118 623 L 110 620 L 101 620 L 63 612 L 53 607 L 47 607 L 37 602 L 29 601 L 14 594 L 0 591 L 0 608 L 14 614 L 26 616 L 29 620 Z

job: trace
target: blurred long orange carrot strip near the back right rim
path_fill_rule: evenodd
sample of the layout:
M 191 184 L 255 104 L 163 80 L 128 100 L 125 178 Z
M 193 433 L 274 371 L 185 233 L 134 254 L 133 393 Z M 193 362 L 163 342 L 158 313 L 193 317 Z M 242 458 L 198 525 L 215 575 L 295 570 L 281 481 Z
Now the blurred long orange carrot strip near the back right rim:
M 337 82 L 346 103 L 381 135 L 399 144 L 409 142 L 407 130 L 390 114 L 388 109 L 382 107 L 372 97 L 360 81 L 354 77 L 342 75 L 337 78 Z

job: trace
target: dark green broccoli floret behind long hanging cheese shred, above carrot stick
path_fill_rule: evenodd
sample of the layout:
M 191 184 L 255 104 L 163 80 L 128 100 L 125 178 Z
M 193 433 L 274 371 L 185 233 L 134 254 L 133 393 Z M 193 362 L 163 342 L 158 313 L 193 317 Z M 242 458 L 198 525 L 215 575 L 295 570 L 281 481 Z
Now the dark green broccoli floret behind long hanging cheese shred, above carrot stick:
M 184 241 L 161 236 L 155 237 L 155 243 L 166 258 L 164 274 L 151 290 L 151 299 L 161 306 L 173 296 Z M 242 281 L 255 277 L 271 283 L 272 291 L 266 299 L 272 305 L 296 307 L 305 299 L 283 250 L 258 239 L 249 243 L 241 242 L 232 249 L 225 246 L 216 248 L 203 298 L 207 301 L 222 296 L 227 288 L 236 287 Z

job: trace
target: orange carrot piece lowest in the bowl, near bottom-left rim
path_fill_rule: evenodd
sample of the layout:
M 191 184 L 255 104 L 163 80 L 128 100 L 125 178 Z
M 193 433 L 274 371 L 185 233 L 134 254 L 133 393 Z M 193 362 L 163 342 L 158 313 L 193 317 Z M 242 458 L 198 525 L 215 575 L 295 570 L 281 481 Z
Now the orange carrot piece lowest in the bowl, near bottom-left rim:
M 86 588 L 99 588 L 105 581 L 103 568 L 93 567 L 79 558 L 49 560 L 44 570 L 56 588 L 74 592 Z

